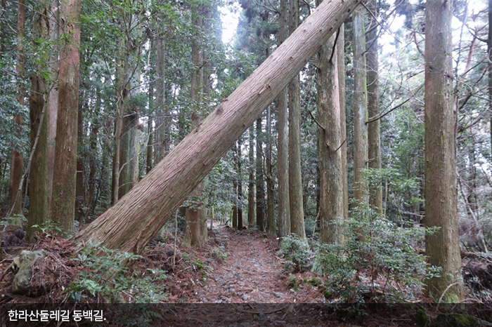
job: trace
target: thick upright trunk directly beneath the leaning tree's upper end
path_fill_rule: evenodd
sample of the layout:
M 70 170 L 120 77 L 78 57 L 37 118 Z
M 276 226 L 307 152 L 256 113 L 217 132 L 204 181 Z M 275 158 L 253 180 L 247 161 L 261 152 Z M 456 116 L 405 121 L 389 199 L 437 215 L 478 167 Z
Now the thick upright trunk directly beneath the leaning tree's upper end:
M 318 4 L 319 5 L 319 4 Z M 342 133 L 339 103 L 338 55 L 335 35 L 318 51 L 318 153 L 320 173 L 320 243 L 341 243 L 336 222 L 344 215 Z M 338 45 L 337 45 L 338 46 Z M 335 53 L 333 53 L 335 51 Z M 333 54 L 333 55 L 332 55 Z M 331 60 L 330 60 L 331 58 Z

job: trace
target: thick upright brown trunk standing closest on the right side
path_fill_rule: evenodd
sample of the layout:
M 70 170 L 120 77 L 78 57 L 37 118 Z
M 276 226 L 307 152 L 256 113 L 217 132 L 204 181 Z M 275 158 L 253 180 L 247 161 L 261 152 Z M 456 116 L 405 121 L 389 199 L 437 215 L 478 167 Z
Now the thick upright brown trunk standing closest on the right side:
M 425 236 L 429 264 L 441 277 L 427 279 L 432 298 L 462 300 L 455 172 L 455 112 L 451 19 L 453 2 L 428 0 L 425 8 L 425 226 L 441 227 Z

